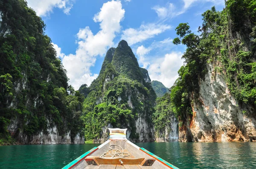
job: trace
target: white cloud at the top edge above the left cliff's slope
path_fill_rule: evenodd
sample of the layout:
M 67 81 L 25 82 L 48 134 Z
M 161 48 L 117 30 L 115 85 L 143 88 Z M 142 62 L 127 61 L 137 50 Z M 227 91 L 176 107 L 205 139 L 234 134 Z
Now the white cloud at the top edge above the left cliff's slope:
M 65 14 L 69 14 L 74 0 L 27 0 L 28 6 L 33 8 L 41 16 L 49 15 L 53 8 L 61 8 Z

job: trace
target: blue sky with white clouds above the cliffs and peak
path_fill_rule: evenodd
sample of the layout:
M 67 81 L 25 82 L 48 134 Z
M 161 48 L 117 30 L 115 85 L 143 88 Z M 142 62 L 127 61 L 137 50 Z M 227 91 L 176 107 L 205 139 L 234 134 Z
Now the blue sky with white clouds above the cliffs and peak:
M 173 45 L 175 28 L 189 23 L 197 33 L 201 14 L 224 0 L 27 0 L 47 25 L 70 84 L 76 90 L 99 74 L 106 51 L 128 42 L 151 80 L 171 87 L 183 65 L 183 45 Z

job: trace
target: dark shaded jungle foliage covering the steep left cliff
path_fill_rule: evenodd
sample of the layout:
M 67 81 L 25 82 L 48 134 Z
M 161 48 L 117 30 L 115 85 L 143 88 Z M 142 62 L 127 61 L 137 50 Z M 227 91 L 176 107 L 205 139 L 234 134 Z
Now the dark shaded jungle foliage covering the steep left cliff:
M 24 0 L 0 0 L 0 144 L 19 142 L 57 126 L 81 131 L 84 96 L 68 85 L 45 24 Z M 7 129 L 15 121 L 15 131 Z M 11 137 L 11 136 L 12 137 Z

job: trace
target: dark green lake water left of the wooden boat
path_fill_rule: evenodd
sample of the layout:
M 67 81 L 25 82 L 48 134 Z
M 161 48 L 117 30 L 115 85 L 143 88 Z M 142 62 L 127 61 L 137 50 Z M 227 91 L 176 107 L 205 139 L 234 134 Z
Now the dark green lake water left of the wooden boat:
M 0 146 L 0 169 L 58 169 L 100 144 Z

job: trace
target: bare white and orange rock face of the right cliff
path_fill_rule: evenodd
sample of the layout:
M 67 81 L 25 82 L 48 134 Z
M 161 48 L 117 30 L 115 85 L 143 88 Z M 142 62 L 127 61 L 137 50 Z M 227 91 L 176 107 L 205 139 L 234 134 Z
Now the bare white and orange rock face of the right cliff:
M 205 79 L 200 79 L 199 101 L 192 103 L 193 116 L 180 127 L 179 141 L 256 141 L 256 110 L 239 106 L 224 73 L 214 67 L 207 65 Z

